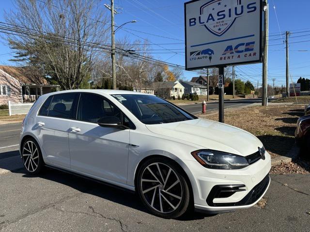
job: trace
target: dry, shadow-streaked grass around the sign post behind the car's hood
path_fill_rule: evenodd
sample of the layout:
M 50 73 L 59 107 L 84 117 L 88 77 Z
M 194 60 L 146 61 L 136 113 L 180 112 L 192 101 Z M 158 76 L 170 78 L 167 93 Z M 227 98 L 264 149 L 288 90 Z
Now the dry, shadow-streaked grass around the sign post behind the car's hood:
M 272 157 L 285 156 L 294 145 L 297 119 L 304 106 L 254 106 L 225 112 L 224 122 L 257 136 Z M 218 115 L 200 115 L 218 120 Z

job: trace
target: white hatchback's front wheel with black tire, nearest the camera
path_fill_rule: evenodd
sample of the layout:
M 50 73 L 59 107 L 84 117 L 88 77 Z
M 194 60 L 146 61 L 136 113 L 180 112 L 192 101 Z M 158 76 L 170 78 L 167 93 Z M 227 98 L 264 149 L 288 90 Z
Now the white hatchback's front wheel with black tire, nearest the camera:
M 190 208 L 186 176 L 171 160 L 146 160 L 138 171 L 136 189 L 144 206 L 155 216 L 176 218 Z

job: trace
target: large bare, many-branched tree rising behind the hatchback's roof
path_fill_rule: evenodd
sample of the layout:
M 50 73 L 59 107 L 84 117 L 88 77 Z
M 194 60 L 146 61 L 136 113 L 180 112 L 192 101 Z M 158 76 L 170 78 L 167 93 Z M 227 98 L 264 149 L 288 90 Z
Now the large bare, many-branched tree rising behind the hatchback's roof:
M 7 35 L 16 61 L 50 77 L 62 89 L 78 88 L 96 62 L 98 48 L 109 36 L 108 23 L 95 0 L 15 0 L 6 22 L 25 35 Z M 35 35 L 35 33 L 37 35 Z

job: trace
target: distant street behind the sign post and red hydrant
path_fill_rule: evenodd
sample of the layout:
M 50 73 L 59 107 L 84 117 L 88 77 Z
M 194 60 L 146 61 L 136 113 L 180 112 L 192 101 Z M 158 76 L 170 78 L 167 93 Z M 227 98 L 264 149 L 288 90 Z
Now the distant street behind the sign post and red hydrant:
M 241 100 L 226 100 L 224 101 L 224 108 L 233 108 L 233 107 L 243 107 L 253 103 L 262 102 L 261 99 L 241 99 Z M 180 105 L 181 108 L 185 109 L 191 114 L 198 114 L 202 112 L 201 104 L 184 104 Z M 218 111 L 218 102 L 208 102 L 207 103 L 207 113 L 212 113 Z

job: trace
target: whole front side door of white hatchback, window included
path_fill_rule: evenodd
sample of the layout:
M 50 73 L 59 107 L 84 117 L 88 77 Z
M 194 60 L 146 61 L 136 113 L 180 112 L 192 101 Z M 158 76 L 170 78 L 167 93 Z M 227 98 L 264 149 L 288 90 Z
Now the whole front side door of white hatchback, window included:
M 129 129 L 103 128 L 97 121 L 122 112 L 101 95 L 82 93 L 77 121 L 69 130 L 71 168 L 107 180 L 126 183 Z

